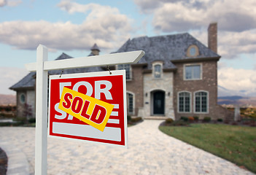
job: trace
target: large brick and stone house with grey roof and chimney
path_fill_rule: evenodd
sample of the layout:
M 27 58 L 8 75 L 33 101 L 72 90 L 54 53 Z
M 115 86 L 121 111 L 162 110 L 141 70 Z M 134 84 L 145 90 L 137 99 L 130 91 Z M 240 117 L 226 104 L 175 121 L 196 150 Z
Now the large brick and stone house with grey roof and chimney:
M 116 52 L 144 50 L 146 53 L 136 64 L 112 67 L 126 71 L 128 114 L 174 120 L 183 116 L 213 120 L 232 117 L 232 113 L 217 105 L 217 61 L 220 60 L 217 23 L 209 25 L 208 36 L 208 47 L 187 33 L 128 39 Z M 98 52 L 95 44 L 90 55 Z M 63 53 L 57 60 L 65 58 L 71 57 Z M 63 74 L 103 70 L 102 67 L 71 69 Z M 30 73 L 10 88 L 17 91 L 18 115 L 26 111 L 24 106 L 28 104 L 34 117 L 34 76 L 35 73 Z

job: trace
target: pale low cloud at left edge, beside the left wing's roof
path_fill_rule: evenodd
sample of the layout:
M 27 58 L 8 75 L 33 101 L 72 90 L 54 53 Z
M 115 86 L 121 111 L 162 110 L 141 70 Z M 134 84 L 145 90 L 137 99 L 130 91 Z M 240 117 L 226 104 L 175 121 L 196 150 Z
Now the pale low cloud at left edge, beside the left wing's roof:
M 9 90 L 9 88 L 25 77 L 28 71 L 20 68 L 0 67 L 0 74 L 0 93 L 15 94 L 15 91 Z

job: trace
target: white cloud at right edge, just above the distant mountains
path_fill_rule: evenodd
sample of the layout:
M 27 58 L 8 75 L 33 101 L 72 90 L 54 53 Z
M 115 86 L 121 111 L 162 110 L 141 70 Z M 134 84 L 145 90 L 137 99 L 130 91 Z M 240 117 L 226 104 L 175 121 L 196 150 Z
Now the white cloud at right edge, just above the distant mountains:
M 223 67 L 218 70 L 218 85 L 233 92 L 233 96 L 256 96 L 256 70 Z

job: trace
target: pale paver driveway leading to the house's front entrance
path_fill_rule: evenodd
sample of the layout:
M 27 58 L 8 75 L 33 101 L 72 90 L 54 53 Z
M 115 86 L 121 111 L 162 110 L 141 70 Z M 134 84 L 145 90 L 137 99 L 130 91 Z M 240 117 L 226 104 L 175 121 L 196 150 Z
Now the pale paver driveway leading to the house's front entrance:
M 128 149 L 48 139 L 47 174 L 252 174 L 158 130 L 163 120 L 128 128 Z M 0 128 L 8 174 L 34 174 L 35 128 Z

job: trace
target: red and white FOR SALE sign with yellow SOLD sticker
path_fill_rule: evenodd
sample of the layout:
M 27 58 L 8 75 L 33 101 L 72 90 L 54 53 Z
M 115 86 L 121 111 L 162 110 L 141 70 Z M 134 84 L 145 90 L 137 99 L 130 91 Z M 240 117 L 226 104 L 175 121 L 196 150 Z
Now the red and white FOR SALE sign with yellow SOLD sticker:
M 125 70 L 50 76 L 48 136 L 127 147 Z

